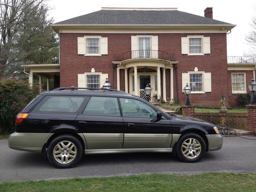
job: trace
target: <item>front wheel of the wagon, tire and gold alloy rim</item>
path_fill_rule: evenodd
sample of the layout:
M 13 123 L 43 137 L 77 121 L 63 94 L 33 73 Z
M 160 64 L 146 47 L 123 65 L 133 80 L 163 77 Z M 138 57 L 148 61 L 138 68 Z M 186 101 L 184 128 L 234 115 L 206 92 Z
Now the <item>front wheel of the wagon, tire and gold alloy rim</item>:
M 187 133 L 177 143 L 177 155 L 184 162 L 198 162 L 206 153 L 204 139 L 196 133 Z

